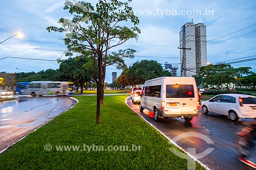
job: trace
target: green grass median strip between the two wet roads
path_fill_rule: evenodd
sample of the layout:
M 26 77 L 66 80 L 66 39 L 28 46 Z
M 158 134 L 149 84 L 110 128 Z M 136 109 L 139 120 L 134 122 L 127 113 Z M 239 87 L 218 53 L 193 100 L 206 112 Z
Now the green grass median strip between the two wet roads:
M 125 105 L 126 96 L 104 96 L 99 125 L 96 96 L 76 96 L 75 107 L 2 153 L 0 169 L 187 169 L 187 160 L 168 150 L 177 148 Z M 113 151 L 122 145 L 134 151 Z

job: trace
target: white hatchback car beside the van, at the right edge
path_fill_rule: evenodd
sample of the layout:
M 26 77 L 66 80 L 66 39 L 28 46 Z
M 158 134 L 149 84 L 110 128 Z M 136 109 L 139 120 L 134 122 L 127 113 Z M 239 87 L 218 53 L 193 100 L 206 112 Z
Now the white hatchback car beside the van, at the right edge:
M 239 118 L 256 118 L 256 97 L 246 94 L 219 94 L 202 102 L 202 112 L 226 115 L 233 121 Z

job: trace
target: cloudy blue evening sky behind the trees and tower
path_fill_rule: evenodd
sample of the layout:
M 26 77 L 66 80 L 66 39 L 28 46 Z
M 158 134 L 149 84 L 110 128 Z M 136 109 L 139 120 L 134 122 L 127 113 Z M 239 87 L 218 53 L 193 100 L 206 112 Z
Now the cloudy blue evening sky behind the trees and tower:
M 48 26 L 58 26 L 58 19 L 72 18 L 63 10 L 65 1 L 59 0 L 11 0 L 0 2 L 0 72 L 38 72 L 57 69 L 55 61 L 63 56 L 66 45 L 64 33 L 49 33 Z M 92 4 L 97 1 L 87 1 Z M 233 67 L 251 67 L 256 72 L 256 1 L 170 1 L 133 0 L 130 3 L 141 30 L 138 40 L 131 39 L 113 48 L 111 52 L 125 48 L 136 50 L 134 59 L 126 59 L 131 66 L 136 61 L 156 60 L 164 64 L 179 64 L 179 31 L 186 22 L 204 23 L 207 32 L 207 62 L 232 63 Z M 17 58 L 12 58 L 17 57 Z M 252 59 L 241 62 L 241 60 Z M 230 61 L 231 60 L 231 61 Z M 180 64 L 179 64 L 180 67 Z M 112 83 L 112 72 L 120 76 L 122 70 L 115 66 L 106 68 L 105 82 Z

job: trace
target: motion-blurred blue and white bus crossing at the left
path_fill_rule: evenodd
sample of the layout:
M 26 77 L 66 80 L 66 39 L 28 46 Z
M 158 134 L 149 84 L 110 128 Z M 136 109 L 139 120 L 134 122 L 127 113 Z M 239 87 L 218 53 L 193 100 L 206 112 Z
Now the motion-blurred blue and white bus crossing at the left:
M 74 83 L 58 81 L 32 81 L 17 83 L 17 93 L 36 95 L 71 95 Z

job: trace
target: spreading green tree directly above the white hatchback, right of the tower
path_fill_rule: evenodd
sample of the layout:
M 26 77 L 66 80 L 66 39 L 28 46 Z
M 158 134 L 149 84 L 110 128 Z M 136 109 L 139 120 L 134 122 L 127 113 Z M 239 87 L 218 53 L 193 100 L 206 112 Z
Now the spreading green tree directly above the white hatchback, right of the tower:
M 233 68 L 230 64 L 217 64 L 203 66 L 199 70 L 199 77 L 202 78 L 202 83 L 208 85 L 217 85 L 219 87 L 224 84 L 227 89 L 230 89 L 231 83 L 236 83 L 237 78 L 242 75 L 249 74 L 250 67 Z

